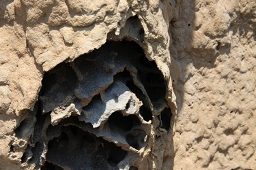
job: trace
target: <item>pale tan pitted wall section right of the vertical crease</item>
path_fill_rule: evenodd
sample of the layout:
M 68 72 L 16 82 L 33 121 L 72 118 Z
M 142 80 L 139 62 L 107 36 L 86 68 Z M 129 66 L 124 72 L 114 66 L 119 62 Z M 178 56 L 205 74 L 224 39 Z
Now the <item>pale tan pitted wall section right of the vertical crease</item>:
M 181 2 L 170 30 L 174 169 L 256 169 L 256 1 Z

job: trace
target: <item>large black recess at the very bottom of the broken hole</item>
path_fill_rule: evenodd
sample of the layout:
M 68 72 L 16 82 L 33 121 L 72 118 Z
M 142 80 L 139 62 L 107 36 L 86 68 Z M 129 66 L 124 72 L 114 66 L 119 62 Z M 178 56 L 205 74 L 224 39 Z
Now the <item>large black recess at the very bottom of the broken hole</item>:
M 61 129 L 61 135 L 48 143 L 46 154 L 46 159 L 55 165 L 71 169 L 109 169 L 115 167 L 127 154 L 127 151 L 114 143 L 83 131 L 78 126 L 63 126 Z

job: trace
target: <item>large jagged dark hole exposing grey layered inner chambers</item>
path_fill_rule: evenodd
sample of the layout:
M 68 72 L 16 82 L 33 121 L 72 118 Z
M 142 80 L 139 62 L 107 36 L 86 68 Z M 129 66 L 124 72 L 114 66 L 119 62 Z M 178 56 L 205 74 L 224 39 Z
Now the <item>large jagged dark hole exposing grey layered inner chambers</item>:
M 137 22 L 137 16 L 134 20 Z M 131 29 L 131 31 L 139 31 L 140 35 L 143 34 L 143 29 Z M 135 38 L 139 37 L 138 34 L 130 33 Z M 143 41 L 142 37 L 139 39 Z M 133 165 L 136 160 L 132 160 L 130 154 L 126 158 L 129 151 L 127 152 L 109 141 L 116 141 L 111 137 L 117 135 L 117 137 L 122 137 L 119 142 L 124 142 L 123 144 L 126 145 L 122 147 L 130 145 L 140 150 L 147 145 L 149 132 L 148 129 L 145 130 L 145 124 L 141 126 L 142 122 L 140 121 L 141 117 L 145 121 L 152 120 L 152 112 L 148 109 L 152 106 L 150 100 L 157 101 L 156 103 L 161 106 L 165 102 L 166 90 L 162 73 L 154 61 L 147 60 L 143 49 L 132 41 L 107 41 L 98 50 L 76 58 L 71 65 L 72 67 L 70 63 L 61 63 L 44 74 L 38 102 L 39 105 L 42 103 L 40 105 L 42 109 L 38 108 L 33 139 L 31 139 L 33 143 L 28 146 L 23 155 L 23 163 L 32 157 L 29 163 L 35 163 L 36 167 L 40 169 L 40 164 L 45 161 L 43 153 L 46 153 L 46 163 L 42 169 L 57 169 L 57 166 L 70 169 L 84 167 L 115 169 L 126 163 L 120 163 L 124 158 L 124 161 L 130 161 L 126 165 L 126 169 L 128 169 L 128 166 Z M 145 89 L 142 88 L 143 86 Z M 139 105 L 141 105 L 141 101 L 143 102 L 143 106 L 139 110 L 140 119 L 138 115 L 132 115 L 138 114 L 139 106 L 134 107 L 133 104 L 137 99 L 127 87 L 140 100 Z M 113 92 L 108 94 L 112 88 Z M 124 94 L 122 89 L 130 96 L 122 103 L 121 108 L 112 110 L 113 105 L 122 101 L 121 95 Z M 104 105 L 106 101 L 113 99 L 115 100 L 113 105 L 111 104 L 109 107 Z M 126 103 L 127 101 L 128 103 Z M 75 108 L 70 107 L 68 110 L 71 103 L 81 103 L 81 105 L 79 107 L 75 105 Z M 155 107 L 155 103 L 153 104 Z M 120 112 L 120 110 L 122 113 L 125 112 L 124 107 L 129 111 L 126 110 L 128 116 L 124 116 Z M 60 117 L 63 114 L 63 118 L 55 126 L 51 125 L 50 113 L 52 111 Z M 104 124 L 102 125 L 104 129 L 100 129 L 91 123 L 98 122 L 102 118 L 100 114 L 105 111 L 106 119 L 102 122 L 110 128 L 107 128 L 106 132 L 103 131 L 106 130 Z M 84 119 L 79 117 L 81 120 L 78 120 L 73 112 L 84 114 Z M 162 128 L 170 128 L 171 115 L 164 111 L 158 118 L 162 122 L 160 124 Z M 25 131 L 23 126 L 27 126 L 27 123 L 29 123 L 27 120 L 20 123 L 20 127 L 16 129 L 17 136 L 21 134 L 21 131 Z M 147 123 L 146 126 L 150 126 L 150 124 Z M 112 136 L 108 138 L 109 130 L 111 130 Z M 96 137 L 96 135 L 101 137 Z M 109 141 L 105 141 L 102 137 L 106 137 Z M 35 147 L 33 147 L 34 145 Z M 117 164 L 119 165 L 117 166 Z M 130 169 L 137 169 L 137 167 L 130 167 Z

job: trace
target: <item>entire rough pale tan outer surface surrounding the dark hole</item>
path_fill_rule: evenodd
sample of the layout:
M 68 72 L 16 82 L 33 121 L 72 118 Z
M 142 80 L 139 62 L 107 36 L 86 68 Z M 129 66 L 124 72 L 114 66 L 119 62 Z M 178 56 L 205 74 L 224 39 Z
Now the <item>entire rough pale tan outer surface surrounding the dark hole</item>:
M 13 154 L 10 142 L 23 110 L 33 109 L 43 71 L 100 48 L 135 14 L 147 57 L 173 82 L 173 111 L 173 89 L 177 100 L 174 162 L 166 158 L 162 169 L 256 169 L 254 0 L 88 2 L 0 3 L 0 169 L 20 168 L 25 146 L 12 143 L 20 148 Z

